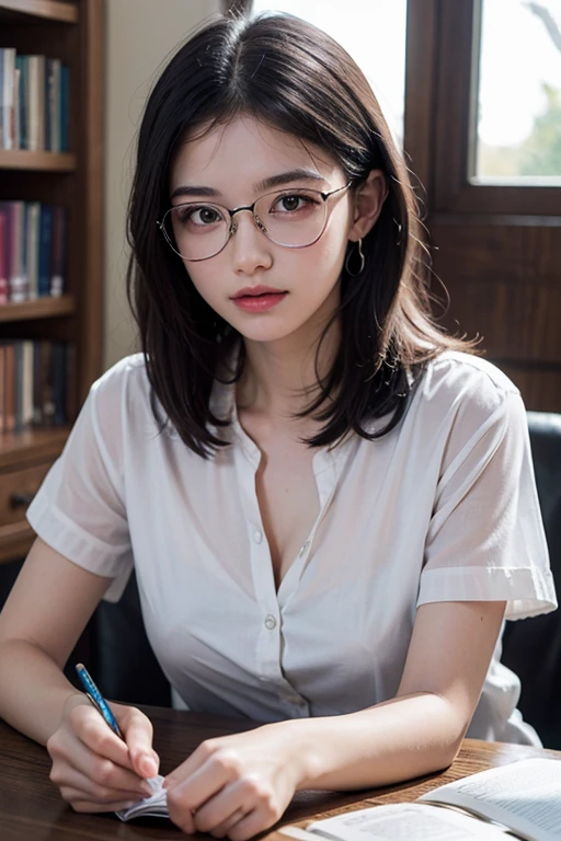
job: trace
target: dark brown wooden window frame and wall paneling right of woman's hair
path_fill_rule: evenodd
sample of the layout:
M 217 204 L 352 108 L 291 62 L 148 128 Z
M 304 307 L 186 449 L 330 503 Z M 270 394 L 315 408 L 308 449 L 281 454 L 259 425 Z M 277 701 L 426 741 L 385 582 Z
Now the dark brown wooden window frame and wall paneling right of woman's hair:
M 449 296 L 439 321 L 481 336 L 528 408 L 561 413 L 561 188 L 471 178 L 480 20 L 481 0 L 408 4 L 404 146 Z M 444 300 L 436 278 L 433 290 Z

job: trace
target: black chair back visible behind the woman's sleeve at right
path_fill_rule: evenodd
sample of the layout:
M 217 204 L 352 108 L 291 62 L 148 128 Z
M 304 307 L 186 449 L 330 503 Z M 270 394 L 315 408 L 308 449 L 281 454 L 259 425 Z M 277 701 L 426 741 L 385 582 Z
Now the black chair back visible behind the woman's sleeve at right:
M 561 415 L 528 412 L 536 484 L 553 579 L 561 590 Z M 503 663 L 522 681 L 518 707 L 543 745 L 561 749 L 561 611 L 507 622 Z

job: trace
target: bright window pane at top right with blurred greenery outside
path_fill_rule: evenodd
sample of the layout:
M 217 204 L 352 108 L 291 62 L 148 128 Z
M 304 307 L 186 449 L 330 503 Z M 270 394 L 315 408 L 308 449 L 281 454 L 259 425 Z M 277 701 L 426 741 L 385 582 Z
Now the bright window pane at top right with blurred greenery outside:
M 559 186 L 561 0 L 483 0 L 479 13 L 472 183 Z

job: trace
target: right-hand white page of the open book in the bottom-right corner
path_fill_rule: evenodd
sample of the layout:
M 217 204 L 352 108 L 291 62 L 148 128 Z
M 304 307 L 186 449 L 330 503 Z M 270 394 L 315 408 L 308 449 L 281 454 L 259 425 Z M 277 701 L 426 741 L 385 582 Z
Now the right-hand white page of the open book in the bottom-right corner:
M 561 760 L 523 759 L 422 795 L 419 802 L 465 806 L 533 841 L 561 838 Z

